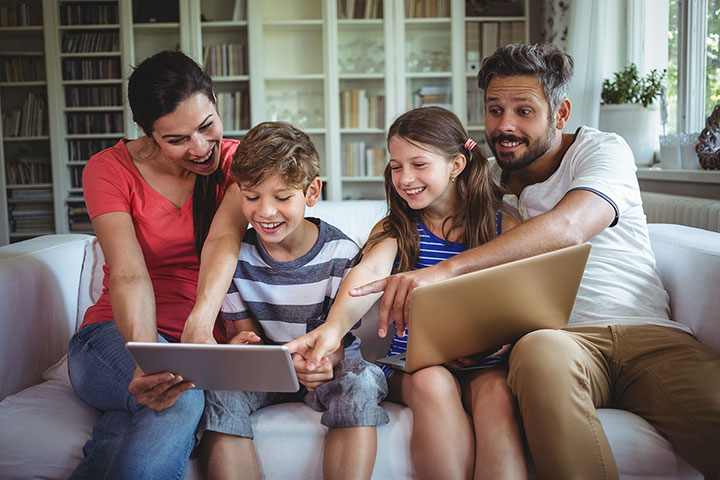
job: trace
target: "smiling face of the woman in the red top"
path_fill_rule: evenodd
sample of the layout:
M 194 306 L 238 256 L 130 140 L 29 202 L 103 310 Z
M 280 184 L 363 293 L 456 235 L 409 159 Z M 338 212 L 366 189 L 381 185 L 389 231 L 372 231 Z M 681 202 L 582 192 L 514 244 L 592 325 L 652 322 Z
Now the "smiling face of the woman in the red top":
M 152 137 L 172 165 L 210 175 L 220 164 L 223 126 L 215 105 L 196 93 L 153 124 Z

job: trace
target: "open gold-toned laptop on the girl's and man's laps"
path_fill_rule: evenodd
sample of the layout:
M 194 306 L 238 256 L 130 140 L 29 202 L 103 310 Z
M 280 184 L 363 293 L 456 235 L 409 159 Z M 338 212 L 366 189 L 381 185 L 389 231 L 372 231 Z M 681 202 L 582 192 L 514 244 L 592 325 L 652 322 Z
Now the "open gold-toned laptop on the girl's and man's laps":
M 589 254 L 585 243 L 416 288 L 407 351 L 377 362 L 414 372 L 566 326 Z

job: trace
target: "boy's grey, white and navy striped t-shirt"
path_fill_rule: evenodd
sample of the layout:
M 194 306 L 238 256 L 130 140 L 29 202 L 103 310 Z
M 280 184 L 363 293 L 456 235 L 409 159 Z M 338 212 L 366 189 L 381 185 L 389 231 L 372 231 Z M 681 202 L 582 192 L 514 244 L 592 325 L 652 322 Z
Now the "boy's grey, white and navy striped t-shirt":
M 289 342 L 325 321 L 340 283 L 359 261 L 359 249 L 332 225 L 308 220 L 318 225 L 317 241 L 308 253 L 289 262 L 273 259 L 257 232 L 247 231 L 220 311 L 223 320 L 254 318 L 276 343 Z M 348 333 L 344 346 L 353 340 Z

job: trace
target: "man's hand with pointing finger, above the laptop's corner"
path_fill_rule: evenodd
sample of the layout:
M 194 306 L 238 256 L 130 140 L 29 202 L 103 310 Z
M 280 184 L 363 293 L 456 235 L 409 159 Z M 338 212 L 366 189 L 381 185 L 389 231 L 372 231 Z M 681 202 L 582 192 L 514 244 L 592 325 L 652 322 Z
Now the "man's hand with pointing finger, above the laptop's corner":
M 450 273 L 446 272 L 443 267 L 443 262 L 440 262 L 432 267 L 396 273 L 361 287 L 353 288 L 349 293 L 353 297 L 361 297 L 384 291 L 385 293 L 380 301 L 378 335 L 384 338 L 388 326 L 394 321 L 395 330 L 402 337 L 405 335 L 405 327 L 410 318 L 410 293 L 421 285 L 450 278 Z

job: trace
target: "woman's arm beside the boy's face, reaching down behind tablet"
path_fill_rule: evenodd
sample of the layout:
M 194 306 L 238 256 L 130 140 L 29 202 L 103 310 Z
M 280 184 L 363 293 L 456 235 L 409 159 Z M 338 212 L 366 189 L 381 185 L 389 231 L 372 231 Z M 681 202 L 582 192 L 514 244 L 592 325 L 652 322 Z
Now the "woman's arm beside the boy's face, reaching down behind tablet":
M 213 338 L 215 319 L 232 281 L 246 229 L 240 188 L 232 184 L 215 213 L 203 245 L 197 299 L 185 321 L 181 342 L 216 343 Z

